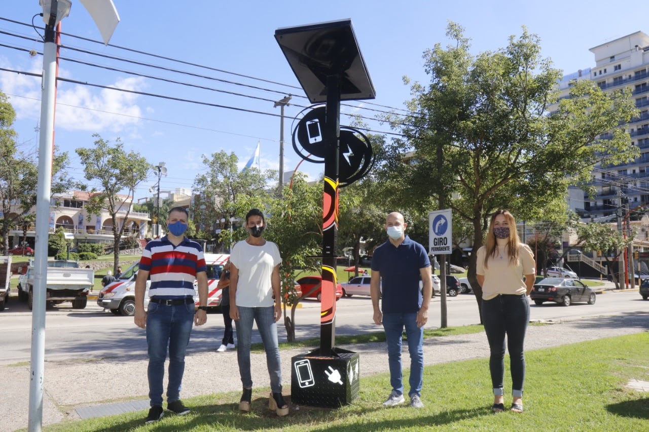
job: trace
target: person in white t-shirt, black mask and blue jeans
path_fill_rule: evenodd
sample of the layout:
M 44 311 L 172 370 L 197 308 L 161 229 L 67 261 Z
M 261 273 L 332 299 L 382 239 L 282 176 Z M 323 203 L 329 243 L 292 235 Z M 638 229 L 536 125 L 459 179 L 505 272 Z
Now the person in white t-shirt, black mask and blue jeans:
M 277 342 L 277 321 L 282 317 L 279 272 L 282 258 L 277 245 L 262 237 L 266 224 L 260 210 L 254 208 L 248 212 L 245 226 L 249 232 L 248 238 L 236 243 L 230 254 L 230 317 L 237 330 L 237 359 L 243 383 L 239 410 L 248 412 L 251 409 L 250 346 L 254 320 L 262 337 L 271 378 L 268 407 L 278 416 L 285 416 L 288 414 L 288 404 L 282 397 L 282 369 Z

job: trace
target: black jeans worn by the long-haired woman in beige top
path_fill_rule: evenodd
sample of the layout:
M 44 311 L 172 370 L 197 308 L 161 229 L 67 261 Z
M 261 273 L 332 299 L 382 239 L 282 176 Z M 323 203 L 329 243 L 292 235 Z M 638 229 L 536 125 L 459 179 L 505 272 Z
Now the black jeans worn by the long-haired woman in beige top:
M 493 394 L 504 394 L 505 335 L 509 351 L 511 387 L 513 396 L 522 396 L 525 381 L 525 356 L 523 344 L 528 322 L 530 304 L 525 294 L 500 294 L 491 300 L 482 300 L 482 321 L 489 341 L 489 370 Z

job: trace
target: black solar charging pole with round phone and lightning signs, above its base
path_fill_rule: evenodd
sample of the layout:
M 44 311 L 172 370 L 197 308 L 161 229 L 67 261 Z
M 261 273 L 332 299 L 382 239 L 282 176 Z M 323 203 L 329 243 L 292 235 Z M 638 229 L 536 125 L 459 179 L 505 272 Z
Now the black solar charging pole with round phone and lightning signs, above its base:
M 374 99 L 376 93 L 349 19 L 277 29 L 275 39 L 309 100 L 319 104 L 300 113 L 293 149 L 304 160 L 324 163 L 319 354 L 336 355 L 338 192 L 367 174 L 373 160 L 367 137 L 341 128 L 340 102 Z

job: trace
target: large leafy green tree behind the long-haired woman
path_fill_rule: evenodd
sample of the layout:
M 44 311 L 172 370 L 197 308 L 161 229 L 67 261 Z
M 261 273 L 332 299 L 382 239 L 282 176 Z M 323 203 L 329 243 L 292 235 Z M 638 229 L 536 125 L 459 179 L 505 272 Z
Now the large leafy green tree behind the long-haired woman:
M 581 80 L 548 115 L 561 73 L 541 57 L 536 35 L 523 29 L 504 49 L 473 56 L 463 31 L 449 23 L 452 43 L 424 53 L 430 84 L 411 85 L 408 108 L 416 114 L 399 119 L 408 140 L 392 143 L 389 168 L 402 178 L 395 191 L 402 199 L 426 208 L 437 197 L 454 221 L 472 224 L 469 280 L 480 309 L 476 252 L 491 213 L 508 208 L 519 220 L 533 220 L 564 200 L 570 182 L 590 180 L 595 163 L 635 158 L 637 149 L 619 125 L 636 110 L 628 91 L 604 93 Z M 607 130 L 613 139 L 597 139 Z M 413 152 L 408 160 L 404 149 Z M 451 193 L 456 198 L 448 200 Z

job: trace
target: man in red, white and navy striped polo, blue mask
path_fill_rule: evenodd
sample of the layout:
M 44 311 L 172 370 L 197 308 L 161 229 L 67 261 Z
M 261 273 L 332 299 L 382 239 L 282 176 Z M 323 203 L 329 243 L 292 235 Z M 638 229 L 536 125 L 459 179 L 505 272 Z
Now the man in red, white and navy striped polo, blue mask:
M 175 207 L 169 211 L 169 234 L 150 241 L 142 252 L 140 269 L 135 282 L 135 324 L 147 330 L 149 347 L 149 399 L 151 409 L 147 423 L 156 422 L 164 415 L 162 392 L 164 363 L 169 346 L 169 384 L 167 409 L 178 415 L 190 413 L 180 401 L 180 385 L 185 370 L 185 351 L 190 341 L 192 324 L 201 326 L 207 321 L 207 267 L 201 245 L 186 238 L 188 211 Z M 144 310 L 147 279 L 149 308 Z M 199 287 L 199 307 L 194 309 L 194 280 Z

